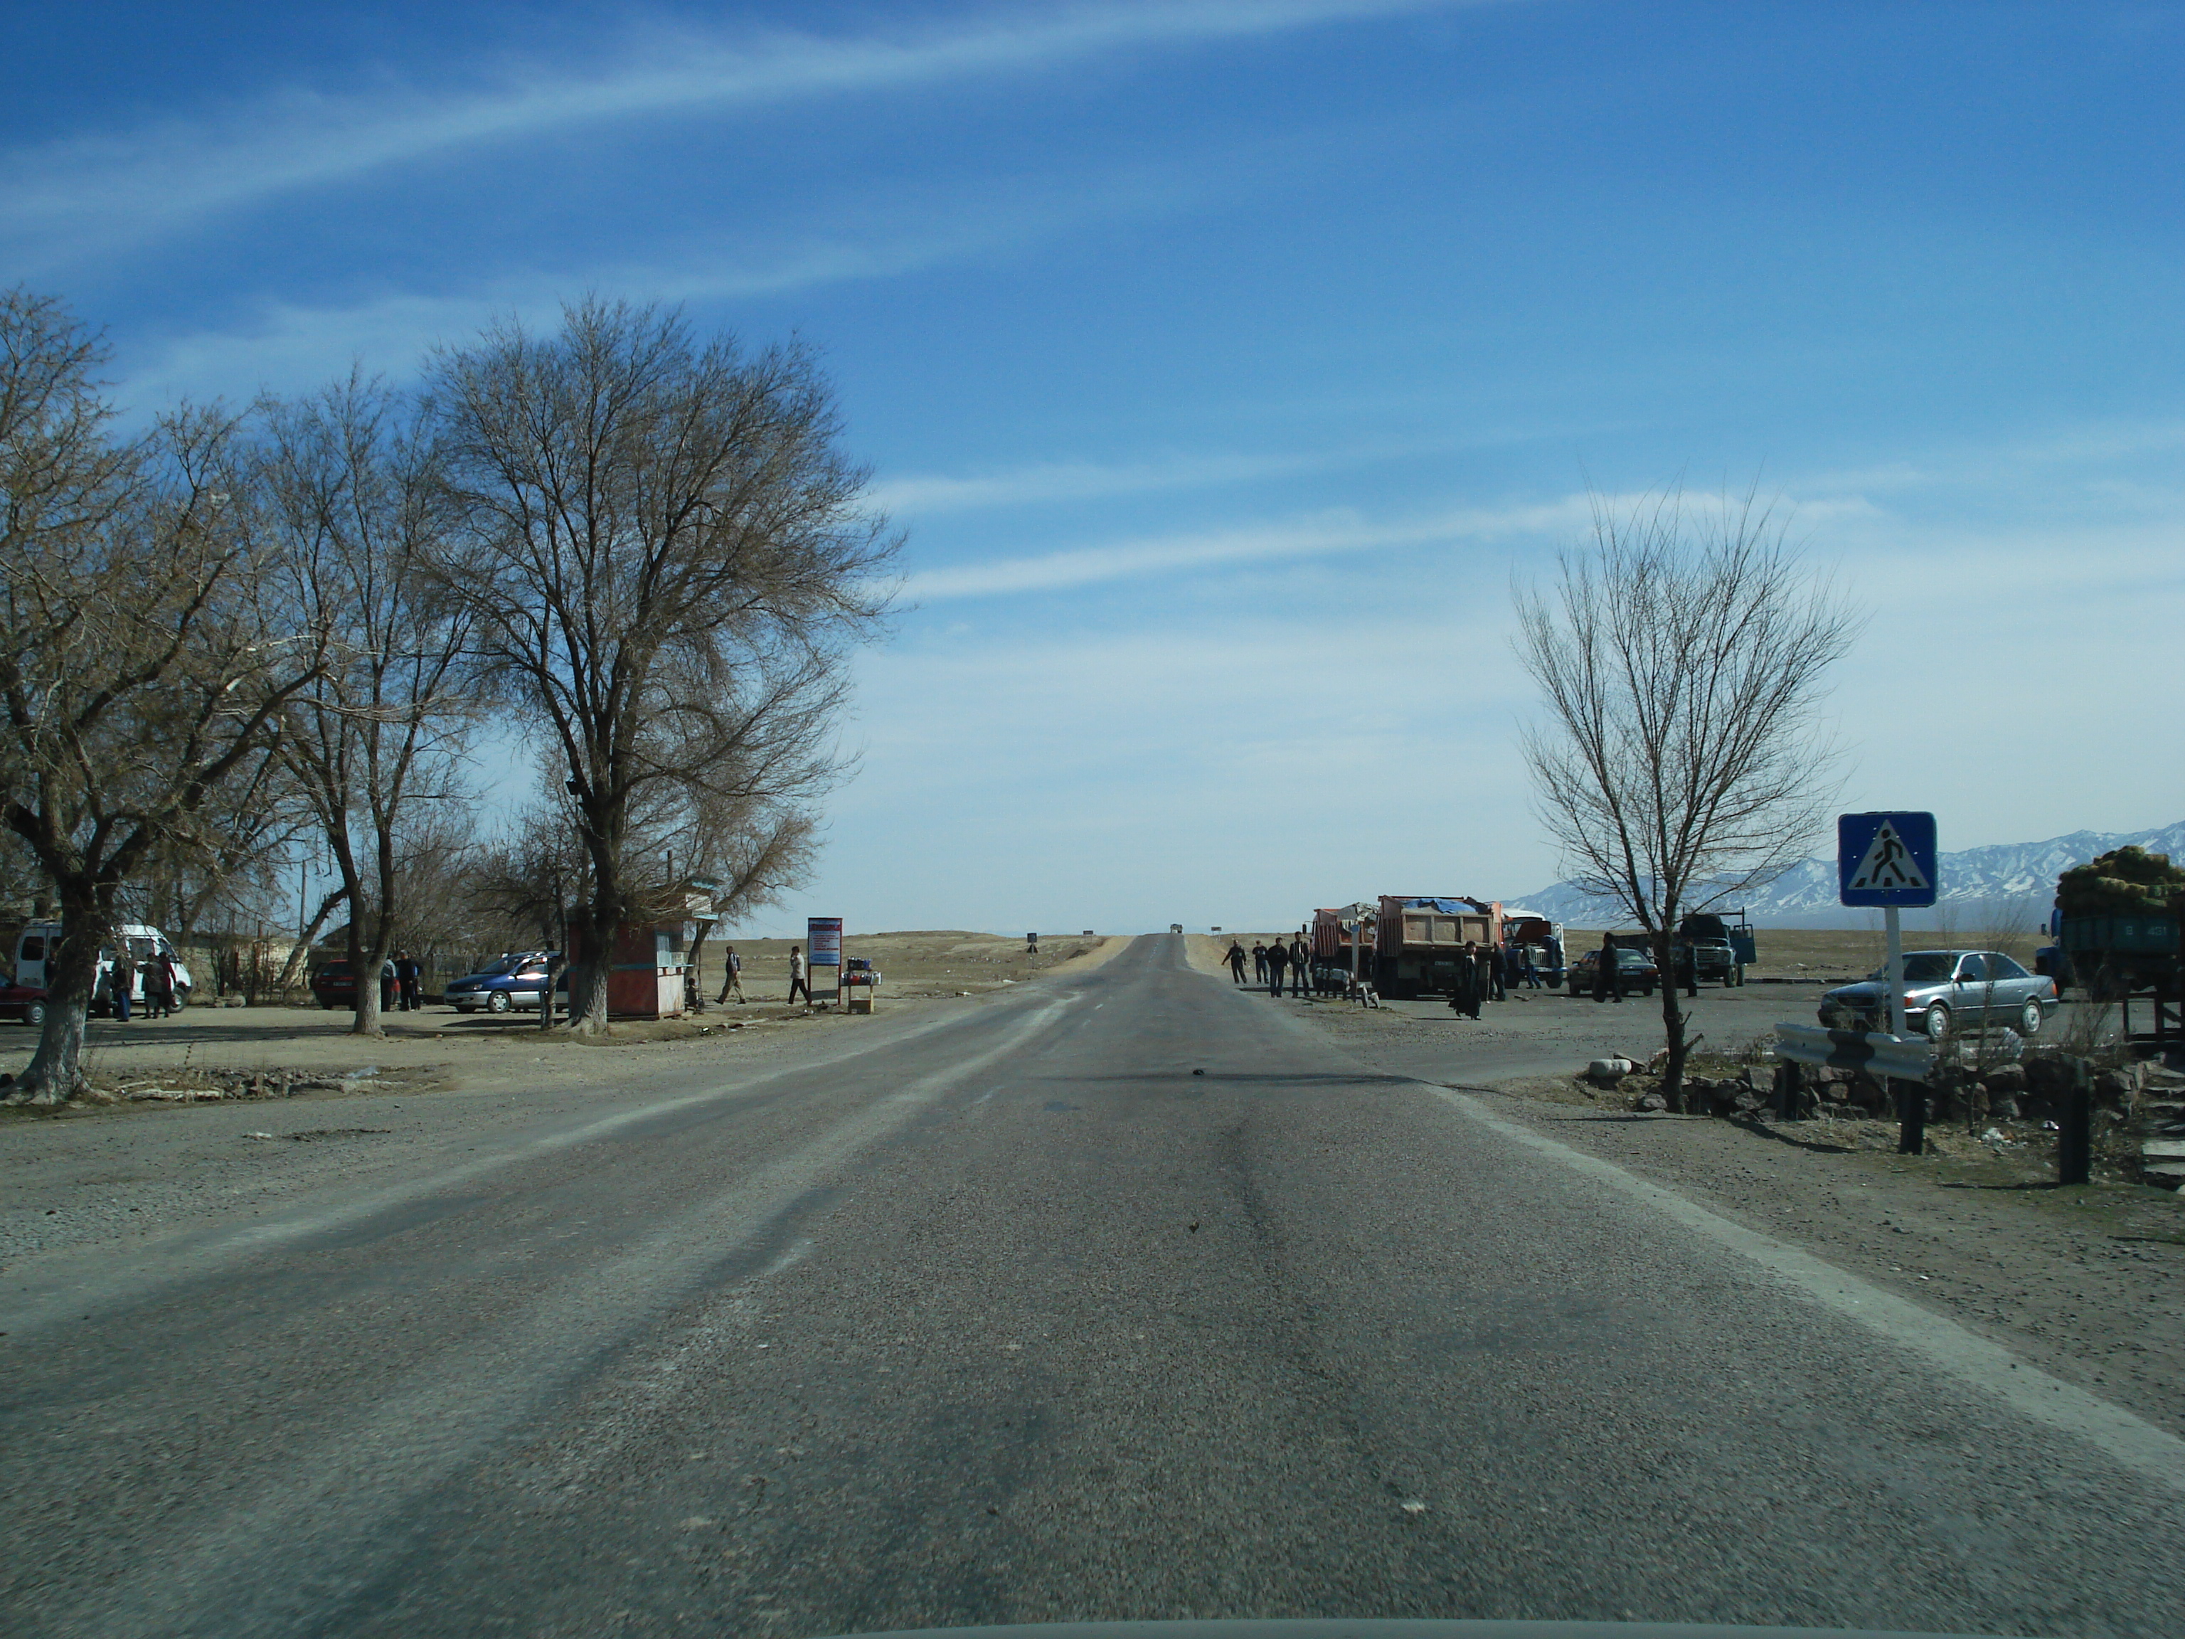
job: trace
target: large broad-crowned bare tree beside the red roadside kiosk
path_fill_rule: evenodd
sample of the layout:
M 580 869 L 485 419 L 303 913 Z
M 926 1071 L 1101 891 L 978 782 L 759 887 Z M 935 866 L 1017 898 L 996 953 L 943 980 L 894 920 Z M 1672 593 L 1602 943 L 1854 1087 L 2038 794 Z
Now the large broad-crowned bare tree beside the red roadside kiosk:
M 446 581 L 566 771 L 590 879 L 570 1023 L 597 1031 L 616 931 L 673 905 L 662 839 L 765 833 L 839 778 L 843 651 L 896 542 L 800 347 L 588 299 L 555 337 L 441 354 L 435 389 L 465 522 Z

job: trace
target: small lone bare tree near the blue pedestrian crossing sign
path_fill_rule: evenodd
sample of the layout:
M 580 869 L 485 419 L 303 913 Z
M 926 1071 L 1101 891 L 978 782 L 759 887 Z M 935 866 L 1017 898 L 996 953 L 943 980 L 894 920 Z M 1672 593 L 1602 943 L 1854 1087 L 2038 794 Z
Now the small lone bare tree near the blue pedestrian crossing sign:
M 1693 511 L 1669 492 L 1623 514 L 1597 496 L 1591 549 L 1514 597 L 1545 706 L 1523 741 L 1538 815 L 1573 881 L 1654 946 L 1663 1093 L 1680 1110 L 1678 920 L 1805 859 L 1838 760 L 1824 677 L 1859 623 L 1750 494 Z

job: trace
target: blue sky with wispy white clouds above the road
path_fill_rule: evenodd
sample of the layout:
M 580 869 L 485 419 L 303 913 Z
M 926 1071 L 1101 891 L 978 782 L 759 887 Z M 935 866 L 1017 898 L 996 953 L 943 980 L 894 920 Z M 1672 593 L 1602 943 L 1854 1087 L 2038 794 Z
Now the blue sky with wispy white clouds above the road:
M 806 911 L 1558 874 L 1510 575 L 1759 483 L 1844 806 L 2185 817 L 2181 4 L 13 7 L 0 280 L 120 396 L 599 288 L 826 352 L 909 531 Z M 754 927 L 749 931 L 763 931 Z

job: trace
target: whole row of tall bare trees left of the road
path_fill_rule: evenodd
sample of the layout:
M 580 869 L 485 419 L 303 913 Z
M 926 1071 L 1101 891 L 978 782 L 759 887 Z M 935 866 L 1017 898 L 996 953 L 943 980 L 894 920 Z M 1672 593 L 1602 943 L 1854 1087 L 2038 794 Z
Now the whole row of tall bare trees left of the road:
M 616 929 L 680 916 L 693 879 L 734 916 L 806 870 L 896 549 L 808 352 L 588 299 L 435 352 L 417 389 L 133 433 L 101 367 L 59 302 L 0 295 L 0 817 L 68 929 L 17 1101 L 81 1090 L 98 948 L 155 885 L 212 892 L 308 835 L 312 931 L 345 911 L 378 972 L 422 881 L 444 909 L 494 739 L 538 793 L 465 883 L 566 931 L 575 1029 L 605 1025 Z

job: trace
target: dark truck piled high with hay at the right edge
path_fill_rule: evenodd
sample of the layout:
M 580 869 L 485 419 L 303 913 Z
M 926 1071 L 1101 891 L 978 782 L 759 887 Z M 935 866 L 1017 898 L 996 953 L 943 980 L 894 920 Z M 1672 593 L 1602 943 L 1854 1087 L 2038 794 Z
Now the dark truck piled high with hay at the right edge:
M 2056 879 L 2056 940 L 2071 977 L 2089 1001 L 2124 1003 L 2130 1036 L 2130 1003 L 2152 1007 L 2152 1036 L 2181 1036 L 2178 924 L 2185 918 L 2185 870 L 2170 854 L 2126 846 L 2074 865 Z

